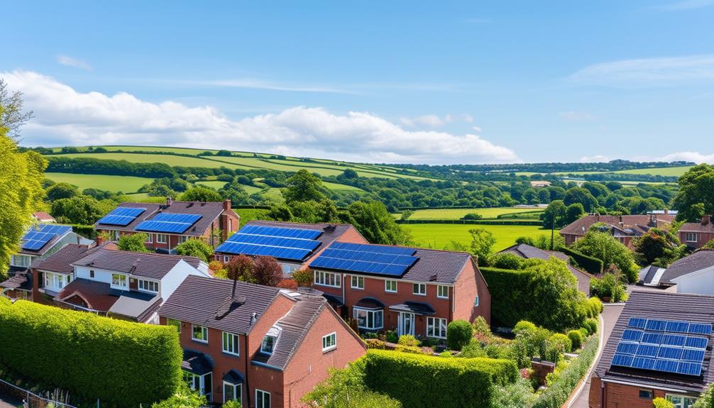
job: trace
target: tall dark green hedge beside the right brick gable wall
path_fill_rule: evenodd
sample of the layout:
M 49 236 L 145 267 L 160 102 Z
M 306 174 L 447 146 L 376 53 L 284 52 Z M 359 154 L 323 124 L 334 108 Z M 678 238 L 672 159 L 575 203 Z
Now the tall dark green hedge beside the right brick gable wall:
M 524 270 L 479 267 L 491 293 L 491 319 L 494 326 L 513 327 L 526 319 L 531 310 L 528 302 L 532 272 Z M 527 320 L 527 319 L 526 319 Z

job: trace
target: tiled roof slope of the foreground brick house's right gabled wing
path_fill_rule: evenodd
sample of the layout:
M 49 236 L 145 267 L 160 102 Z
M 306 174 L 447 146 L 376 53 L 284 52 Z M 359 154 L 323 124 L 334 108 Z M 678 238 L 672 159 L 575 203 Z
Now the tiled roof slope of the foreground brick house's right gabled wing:
M 326 303 L 324 297 L 302 295 L 290 312 L 275 324 L 281 331 L 273 347 L 273 354 L 258 352 L 253 361 L 285 369 Z

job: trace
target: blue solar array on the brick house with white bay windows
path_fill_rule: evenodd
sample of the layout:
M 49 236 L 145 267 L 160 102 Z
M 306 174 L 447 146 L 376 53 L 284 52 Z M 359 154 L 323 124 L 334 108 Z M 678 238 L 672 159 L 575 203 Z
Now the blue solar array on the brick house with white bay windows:
M 413 248 L 333 243 L 310 267 L 401 277 L 419 259 Z

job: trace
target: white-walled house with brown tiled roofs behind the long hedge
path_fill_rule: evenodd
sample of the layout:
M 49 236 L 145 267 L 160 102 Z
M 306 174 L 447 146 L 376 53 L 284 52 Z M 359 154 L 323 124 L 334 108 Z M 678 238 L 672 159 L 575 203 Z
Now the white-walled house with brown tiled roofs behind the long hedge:
M 31 266 L 35 302 L 156 323 L 156 309 L 190 275 L 208 277 L 196 257 L 66 245 Z

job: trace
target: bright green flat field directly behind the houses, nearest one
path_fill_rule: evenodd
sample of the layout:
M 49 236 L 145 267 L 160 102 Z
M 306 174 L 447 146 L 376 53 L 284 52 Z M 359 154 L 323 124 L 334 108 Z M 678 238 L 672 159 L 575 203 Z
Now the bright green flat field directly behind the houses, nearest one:
M 510 247 L 516 243 L 518 237 L 550 236 L 550 230 L 534 225 L 402 224 L 402 227 L 411 232 L 418 246 L 433 249 L 446 249 L 451 241 L 469 245 L 471 235 L 468 230 L 473 228 L 488 230 L 493 234 L 496 238 L 494 252 Z M 555 233 L 557 234 L 558 231 L 556 230 Z

